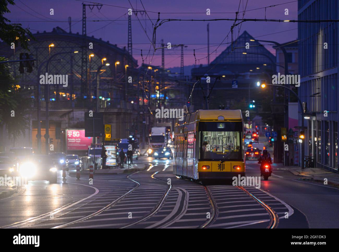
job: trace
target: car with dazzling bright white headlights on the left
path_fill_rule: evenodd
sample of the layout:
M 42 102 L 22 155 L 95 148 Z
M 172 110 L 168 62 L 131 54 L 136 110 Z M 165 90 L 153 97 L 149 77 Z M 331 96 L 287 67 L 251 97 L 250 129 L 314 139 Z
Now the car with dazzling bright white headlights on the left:
M 47 180 L 57 182 L 57 167 L 50 155 L 32 155 L 19 164 L 19 175 L 29 180 Z

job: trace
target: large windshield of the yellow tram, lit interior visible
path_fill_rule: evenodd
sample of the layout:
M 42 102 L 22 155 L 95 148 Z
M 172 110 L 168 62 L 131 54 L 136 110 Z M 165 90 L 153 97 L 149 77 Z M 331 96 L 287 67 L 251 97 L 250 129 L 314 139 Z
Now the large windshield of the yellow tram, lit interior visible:
M 199 122 L 199 160 L 242 161 L 242 122 Z

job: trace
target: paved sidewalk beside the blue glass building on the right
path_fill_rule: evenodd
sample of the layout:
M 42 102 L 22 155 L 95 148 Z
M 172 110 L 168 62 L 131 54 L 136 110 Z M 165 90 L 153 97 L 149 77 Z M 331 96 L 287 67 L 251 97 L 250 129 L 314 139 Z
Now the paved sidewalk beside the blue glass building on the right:
M 324 178 L 327 178 L 327 184 L 333 186 L 339 186 L 339 174 L 327 171 L 322 168 L 305 168 L 301 169 L 299 166 L 275 166 L 273 168 L 286 169 L 294 175 L 297 175 L 302 180 L 312 180 L 317 182 L 324 182 Z

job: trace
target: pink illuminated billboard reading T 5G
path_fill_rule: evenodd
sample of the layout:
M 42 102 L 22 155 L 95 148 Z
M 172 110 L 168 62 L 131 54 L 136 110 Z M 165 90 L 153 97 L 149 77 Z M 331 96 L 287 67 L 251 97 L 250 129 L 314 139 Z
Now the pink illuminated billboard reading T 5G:
M 85 137 L 85 129 L 66 129 L 67 151 L 87 151 L 92 141 L 92 137 Z

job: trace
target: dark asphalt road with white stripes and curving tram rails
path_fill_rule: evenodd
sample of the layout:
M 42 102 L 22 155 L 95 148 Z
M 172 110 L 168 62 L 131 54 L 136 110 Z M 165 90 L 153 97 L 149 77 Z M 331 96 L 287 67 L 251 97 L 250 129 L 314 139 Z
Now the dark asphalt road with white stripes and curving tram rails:
M 146 169 L 58 183 L 30 181 L 0 200 L 2 228 L 337 228 L 339 190 L 275 169 L 261 187 L 203 186 L 177 178 L 172 160 L 140 157 Z M 258 176 L 246 161 L 246 176 Z M 288 216 L 288 218 L 286 218 Z

